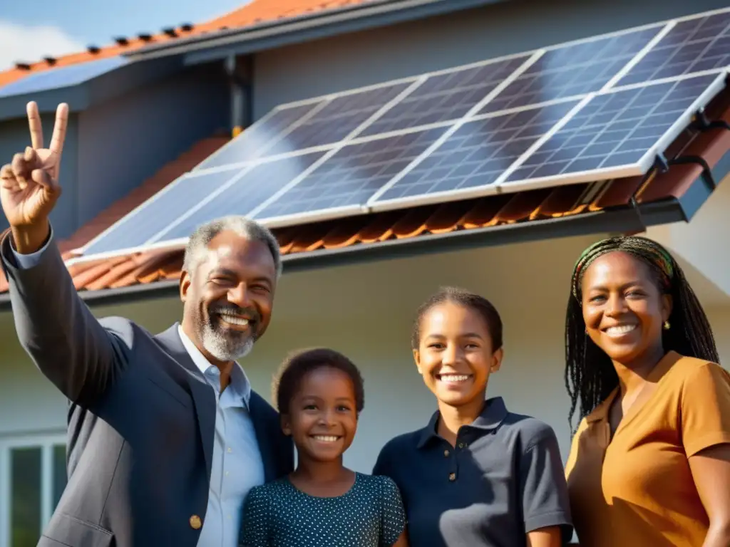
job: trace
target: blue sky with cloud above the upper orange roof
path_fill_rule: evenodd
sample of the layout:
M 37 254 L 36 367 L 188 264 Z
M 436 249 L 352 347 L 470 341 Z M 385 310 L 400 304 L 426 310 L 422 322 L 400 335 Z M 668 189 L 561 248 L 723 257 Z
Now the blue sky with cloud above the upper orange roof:
M 1 1 L 0 70 L 15 61 L 36 61 L 103 45 L 113 36 L 158 32 L 197 23 L 236 9 L 247 0 Z M 113 6 L 113 7 L 112 7 Z

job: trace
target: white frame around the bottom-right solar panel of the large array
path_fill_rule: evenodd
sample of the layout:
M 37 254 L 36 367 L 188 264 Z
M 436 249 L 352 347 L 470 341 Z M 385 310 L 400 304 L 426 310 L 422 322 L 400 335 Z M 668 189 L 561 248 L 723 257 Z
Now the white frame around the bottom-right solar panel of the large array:
M 600 93 L 596 93 L 593 96 L 610 96 L 615 95 L 616 93 L 621 93 L 625 90 L 642 90 L 647 88 L 652 88 L 654 86 L 659 85 L 666 85 L 667 83 L 671 82 L 683 82 L 688 81 L 692 79 L 702 79 L 705 77 L 711 77 L 712 74 L 692 74 L 689 76 L 682 76 L 682 77 L 676 77 L 671 79 L 665 79 L 661 82 L 650 82 L 650 83 L 640 83 L 635 85 L 626 85 L 622 86 L 621 88 L 613 88 L 611 90 L 602 91 Z M 632 164 L 625 164 L 623 166 L 610 166 L 607 168 L 598 168 L 598 169 L 590 169 L 586 171 L 577 171 L 572 173 L 566 173 L 561 175 L 550 175 L 550 176 L 544 176 L 544 177 L 531 177 L 528 179 L 516 179 L 516 180 L 509 180 L 510 176 L 512 176 L 512 173 L 516 171 L 518 168 L 523 166 L 523 164 L 528 160 L 531 155 L 533 155 L 535 152 L 539 152 L 540 148 L 543 144 L 545 144 L 549 139 L 556 134 L 558 131 L 561 130 L 561 128 L 566 124 L 569 123 L 570 120 L 566 120 L 564 124 L 562 124 L 560 127 L 553 128 L 553 131 L 545 135 L 542 139 L 537 141 L 534 146 L 531 148 L 531 150 L 528 150 L 523 155 L 523 158 L 518 159 L 515 161 L 515 163 L 512 164 L 512 166 L 507 169 L 507 171 L 504 171 L 504 174 L 502 174 L 502 177 L 500 177 L 497 184 L 499 185 L 500 192 L 507 193 L 507 192 L 520 192 L 523 190 L 537 190 L 540 188 L 545 187 L 554 187 L 554 186 L 564 186 L 564 185 L 572 185 L 572 184 L 579 184 L 581 182 L 594 182 L 596 180 L 606 180 L 606 179 L 616 179 L 616 178 L 622 178 L 626 176 L 642 176 L 648 173 L 650 168 L 654 165 L 656 158 L 661 152 L 664 152 L 666 150 L 666 147 L 669 147 L 669 144 L 672 144 L 672 141 L 674 141 L 677 136 L 682 133 L 682 131 L 687 128 L 687 126 L 691 123 L 694 115 L 696 112 L 698 112 L 699 109 L 704 108 L 704 106 L 707 106 L 707 104 L 714 98 L 723 88 L 725 87 L 725 74 L 718 74 L 715 76 L 714 79 L 710 78 L 710 84 L 707 85 L 707 88 L 705 88 L 704 92 L 700 93 L 699 97 L 697 97 L 687 108 L 685 108 L 682 115 L 677 117 L 674 123 L 669 126 L 669 128 L 664 131 L 664 134 L 656 139 L 655 144 L 648 147 L 648 150 L 642 155 L 642 157 L 637 160 L 636 163 Z M 588 96 L 582 101 L 582 106 L 585 106 L 588 104 L 593 96 Z M 574 114 L 571 116 L 577 116 L 580 115 L 580 109 L 578 109 Z

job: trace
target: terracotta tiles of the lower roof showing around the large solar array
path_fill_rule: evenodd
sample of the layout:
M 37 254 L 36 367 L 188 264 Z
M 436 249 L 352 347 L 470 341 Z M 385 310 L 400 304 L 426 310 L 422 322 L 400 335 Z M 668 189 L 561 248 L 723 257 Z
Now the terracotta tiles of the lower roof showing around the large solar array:
M 723 95 L 721 100 L 724 99 L 728 99 L 727 104 L 723 105 L 724 109 L 712 114 L 711 119 L 730 121 L 730 93 Z M 718 102 L 721 101 L 715 101 L 711 105 L 715 107 L 715 111 Z M 708 107 L 708 112 L 711 110 Z M 141 187 L 114 203 L 74 236 L 61 241 L 64 257 L 70 256 L 69 249 L 81 247 L 118 218 L 150 198 L 161 187 L 195 166 L 226 140 L 205 139 L 169 166 L 161 168 Z M 681 146 L 677 143 L 681 143 Z M 685 131 L 672 146 L 675 153 L 700 156 L 712 167 L 730 150 L 730 131 L 724 128 L 700 133 Z M 693 163 L 673 165 L 669 171 L 649 176 L 646 181 L 642 177 L 630 177 L 593 184 L 498 194 L 399 211 L 361 214 L 342 220 L 314 222 L 277 229 L 274 230 L 274 235 L 280 243 L 282 254 L 292 255 L 320 249 L 373 244 L 388 239 L 414 238 L 428 233 L 448 233 L 505 223 L 529 222 L 626 206 L 632 197 L 639 203 L 679 198 L 701 173 L 702 167 Z M 69 272 L 77 290 L 91 291 L 179 279 L 182 267 L 182 249 L 158 249 L 126 257 L 77 263 L 69 266 Z M 0 292 L 7 292 L 7 282 L 1 275 Z

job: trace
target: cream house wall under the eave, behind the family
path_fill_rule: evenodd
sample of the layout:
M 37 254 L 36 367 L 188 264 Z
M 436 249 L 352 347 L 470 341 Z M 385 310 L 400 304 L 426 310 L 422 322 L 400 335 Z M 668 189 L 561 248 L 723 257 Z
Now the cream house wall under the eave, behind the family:
M 597 238 L 597 237 L 596 237 Z M 593 237 L 399 258 L 285 274 L 268 333 L 242 364 L 254 389 L 269 398 L 278 365 L 293 349 L 330 346 L 361 367 L 366 403 L 347 463 L 368 472 L 385 441 L 423 427 L 435 403 L 410 352 L 412 314 L 431 292 L 456 284 L 491 298 L 504 321 L 505 359 L 489 395 L 514 411 L 539 416 L 569 449 L 569 400 L 563 381 L 564 317 L 569 276 Z M 688 272 L 696 282 L 696 272 Z M 724 362 L 730 362 L 730 304 L 704 301 Z M 180 318 L 173 298 L 95 309 L 130 317 L 153 332 Z M 15 341 L 11 317 L 0 317 L 0 441 L 19 432 L 65 428 L 65 402 Z

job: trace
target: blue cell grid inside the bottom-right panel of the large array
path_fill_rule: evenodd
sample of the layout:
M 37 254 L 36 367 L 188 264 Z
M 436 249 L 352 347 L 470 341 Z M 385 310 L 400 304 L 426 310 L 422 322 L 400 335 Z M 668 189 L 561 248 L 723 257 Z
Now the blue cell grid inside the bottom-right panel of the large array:
M 717 78 L 681 79 L 594 97 L 513 171 L 505 186 L 637 166 Z

